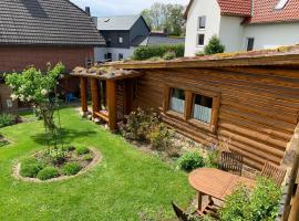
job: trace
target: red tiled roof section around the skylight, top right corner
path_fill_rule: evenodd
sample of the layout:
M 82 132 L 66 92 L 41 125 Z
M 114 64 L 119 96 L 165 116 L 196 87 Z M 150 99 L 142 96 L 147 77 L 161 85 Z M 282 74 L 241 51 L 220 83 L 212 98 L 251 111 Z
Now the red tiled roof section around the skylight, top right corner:
M 255 0 L 249 23 L 299 21 L 299 0 L 289 0 L 283 9 L 275 9 L 279 0 Z

